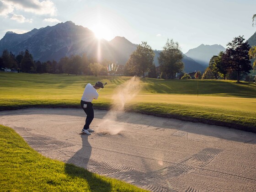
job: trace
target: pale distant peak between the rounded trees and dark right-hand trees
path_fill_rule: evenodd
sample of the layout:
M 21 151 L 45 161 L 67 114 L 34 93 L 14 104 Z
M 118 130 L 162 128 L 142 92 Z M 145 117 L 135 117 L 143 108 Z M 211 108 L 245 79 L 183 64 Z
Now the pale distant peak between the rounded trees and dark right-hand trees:
M 218 55 L 220 51 L 225 51 L 226 49 L 221 45 L 204 45 L 201 44 L 197 48 L 189 49 L 185 55 L 193 59 L 199 64 L 208 66 L 210 59 L 213 55 Z

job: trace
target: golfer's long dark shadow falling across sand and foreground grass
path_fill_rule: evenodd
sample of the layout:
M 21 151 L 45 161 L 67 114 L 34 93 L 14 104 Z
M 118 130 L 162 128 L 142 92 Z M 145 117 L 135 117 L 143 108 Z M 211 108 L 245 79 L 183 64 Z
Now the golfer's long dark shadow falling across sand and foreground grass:
M 88 135 L 81 135 L 82 148 L 75 153 L 65 164 L 65 172 L 75 178 L 84 179 L 89 185 L 91 191 L 111 191 L 111 184 L 95 176 L 90 169 L 91 144 L 88 141 Z M 81 169 L 80 167 L 84 168 Z M 81 188 L 82 189 L 82 188 Z

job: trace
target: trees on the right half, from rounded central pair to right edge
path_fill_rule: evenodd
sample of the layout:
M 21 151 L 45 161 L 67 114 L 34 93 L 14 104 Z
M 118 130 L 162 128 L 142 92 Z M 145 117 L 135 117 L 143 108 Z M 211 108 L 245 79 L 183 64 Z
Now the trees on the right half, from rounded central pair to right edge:
M 182 74 L 181 79 L 191 79 L 191 76 L 197 75 L 198 79 L 236 79 L 239 82 L 243 75 L 249 74 L 253 68 L 256 68 L 256 61 L 254 61 L 253 67 L 250 61 L 250 59 L 256 58 L 256 46 L 250 47 L 243 36 L 235 37 L 227 46 L 225 52 L 220 52 L 219 55 L 214 55 L 210 59 L 209 66 L 203 75 L 201 75 L 201 71 L 184 74 L 182 72 L 184 69 L 183 55 L 179 43 L 168 39 L 158 57 L 160 78 L 174 79 L 176 74 L 180 73 Z M 139 44 L 125 66 L 129 75 L 144 77 L 145 72 L 148 72 L 148 77 L 155 78 L 154 56 L 155 53 L 147 42 Z

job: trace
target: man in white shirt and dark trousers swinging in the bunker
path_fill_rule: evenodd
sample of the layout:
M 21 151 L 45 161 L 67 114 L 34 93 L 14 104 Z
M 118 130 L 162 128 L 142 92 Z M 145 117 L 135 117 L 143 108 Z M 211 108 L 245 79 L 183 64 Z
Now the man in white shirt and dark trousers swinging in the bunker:
M 94 132 L 94 130 L 90 128 L 90 124 L 94 118 L 94 111 L 92 107 L 93 105 L 91 101 L 93 99 L 98 99 L 99 94 L 97 93 L 96 90 L 100 88 L 104 88 L 104 85 L 101 81 L 96 82 L 95 85 L 91 85 L 90 83 L 88 83 L 85 86 L 85 91 L 81 98 L 81 102 L 80 102 L 81 107 L 83 108 L 83 110 L 87 115 L 82 132 L 86 133 L 87 135 L 91 135 L 91 133 Z

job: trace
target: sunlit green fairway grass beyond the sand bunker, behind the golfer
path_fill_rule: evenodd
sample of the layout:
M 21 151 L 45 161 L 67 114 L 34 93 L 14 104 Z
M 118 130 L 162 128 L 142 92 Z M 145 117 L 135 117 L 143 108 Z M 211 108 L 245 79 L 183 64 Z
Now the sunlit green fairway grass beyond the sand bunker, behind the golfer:
M 109 108 L 116 87 L 131 77 L 0 73 L 0 110 L 80 107 L 87 83 L 107 82 L 95 107 Z M 125 109 L 163 117 L 256 131 L 256 84 L 231 80 L 141 80 L 143 89 Z

